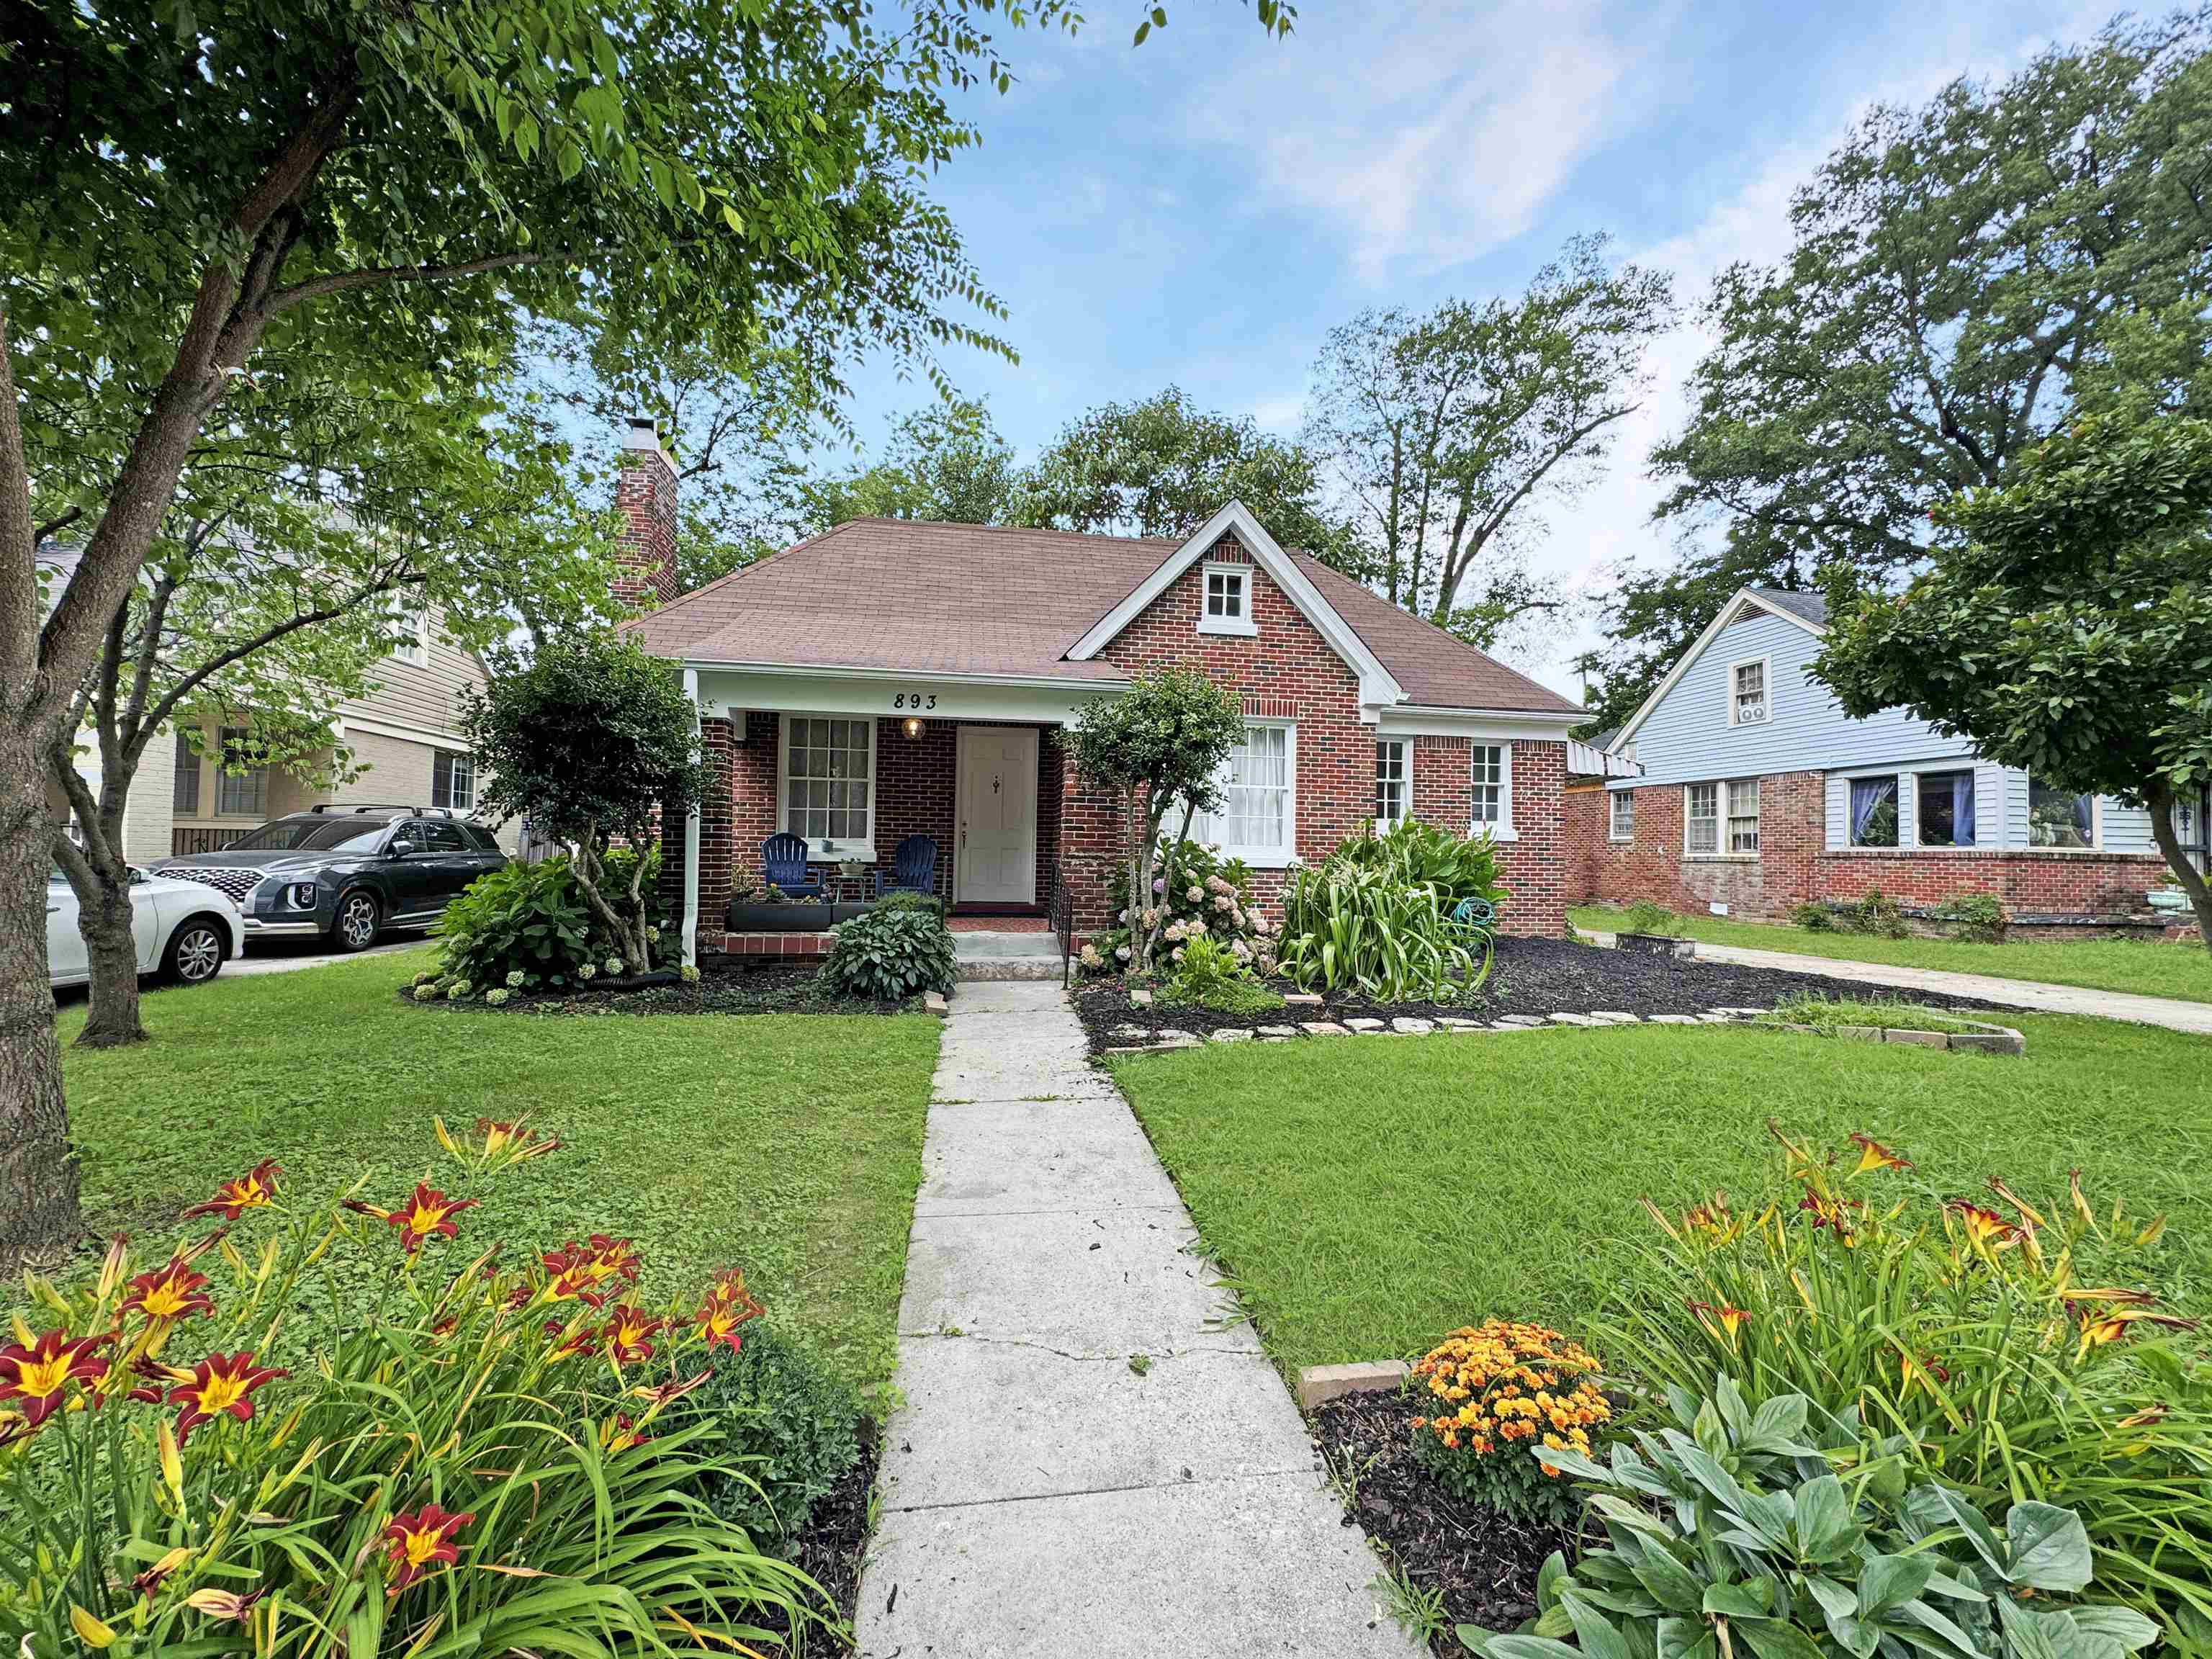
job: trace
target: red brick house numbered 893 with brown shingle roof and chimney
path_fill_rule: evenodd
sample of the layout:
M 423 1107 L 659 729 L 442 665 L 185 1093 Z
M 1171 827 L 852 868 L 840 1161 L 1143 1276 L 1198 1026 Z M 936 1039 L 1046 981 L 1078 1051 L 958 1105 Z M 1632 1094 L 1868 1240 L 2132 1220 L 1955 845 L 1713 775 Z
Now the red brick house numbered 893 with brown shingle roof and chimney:
M 659 604 L 628 626 L 684 668 L 728 781 L 664 856 L 699 951 L 761 949 L 721 925 L 779 830 L 825 874 L 925 834 L 956 914 L 1044 916 L 1064 889 L 1077 936 L 1110 927 L 1119 818 L 1064 734 L 1166 666 L 1243 697 L 1230 805 L 1194 834 L 1252 865 L 1270 907 L 1290 865 L 1411 814 L 1498 838 L 1506 931 L 1564 925 L 1582 710 L 1285 551 L 1239 502 L 1188 540 L 854 520 L 677 597 L 672 498 L 641 425 L 617 588 Z

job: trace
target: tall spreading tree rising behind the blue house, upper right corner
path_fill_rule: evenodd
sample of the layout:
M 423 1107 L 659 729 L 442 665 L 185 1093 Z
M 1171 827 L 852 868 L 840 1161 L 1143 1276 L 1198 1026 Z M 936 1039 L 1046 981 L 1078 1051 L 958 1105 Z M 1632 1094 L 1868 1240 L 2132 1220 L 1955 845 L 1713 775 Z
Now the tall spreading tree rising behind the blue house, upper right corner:
M 2208 46 L 2212 13 L 2124 18 L 2008 80 L 1876 108 L 1796 192 L 1790 254 L 1721 272 L 1690 420 L 1652 453 L 1692 553 L 1624 582 L 1601 721 L 1745 582 L 1896 584 L 1955 544 L 1931 509 L 2004 484 L 2099 403 L 2143 316 L 2166 319 L 2170 367 L 2203 361 Z

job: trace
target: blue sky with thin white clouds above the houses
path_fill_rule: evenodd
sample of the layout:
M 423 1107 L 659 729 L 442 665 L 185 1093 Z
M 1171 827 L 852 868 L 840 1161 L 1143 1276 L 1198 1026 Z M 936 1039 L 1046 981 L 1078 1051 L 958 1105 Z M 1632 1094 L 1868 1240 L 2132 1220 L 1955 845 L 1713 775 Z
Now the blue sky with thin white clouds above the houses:
M 1694 301 L 1719 265 L 1787 246 L 1790 190 L 1869 104 L 2002 75 L 2108 13 L 1305 0 L 1267 40 L 1232 0 L 1175 0 L 1133 49 L 1137 9 L 1093 0 L 1073 40 L 1011 38 L 1020 84 L 973 95 L 984 142 L 938 177 L 1022 354 L 945 365 L 1024 456 L 1170 380 L 1294 434 L 1321 336 L 1358 310 L 1517 292 L 1588 230 Z M 1579 595 L 1672 555 L 1644 453 L 1679 422 L 1697 352 L 1694 327 L 1655 347 L 1604 482 L 1528 542 Z M 854 387 L 865 440 L 931 396 L 883 367 Z M 1579 624 L 1513 655 L 1573 692 L 1564 664 L 1590 639 Z

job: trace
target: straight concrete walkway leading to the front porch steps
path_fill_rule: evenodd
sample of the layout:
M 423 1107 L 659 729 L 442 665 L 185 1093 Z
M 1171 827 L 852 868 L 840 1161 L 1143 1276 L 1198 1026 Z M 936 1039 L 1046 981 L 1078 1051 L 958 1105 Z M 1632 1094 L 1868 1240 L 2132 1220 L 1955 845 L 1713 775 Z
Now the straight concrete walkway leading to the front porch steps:
M 1060 987 L 962 984 L 914 1206 L 863 1659 L 1418 1652 L 1194 1250 Z

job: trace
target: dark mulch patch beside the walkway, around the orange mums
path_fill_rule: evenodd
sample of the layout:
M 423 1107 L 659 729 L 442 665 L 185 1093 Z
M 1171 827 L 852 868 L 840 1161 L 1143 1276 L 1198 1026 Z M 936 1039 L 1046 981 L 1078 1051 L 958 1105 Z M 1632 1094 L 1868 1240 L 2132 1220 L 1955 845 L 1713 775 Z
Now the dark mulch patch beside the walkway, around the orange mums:
M 1467 1652 L 1451 1628 L 1511 1630 L 1535 1617 L 1535 1575 L 1544 1557 L 1575 1542 L 1566 1533 L 1506 1520 L 1462 1504 L 1413 1458 L 1413 1400 L 1396 1391 L 1345 1394 L 1314 1413 L 1314 1442 L 1349 1493 L 1345 1526 L 1367 1528 L 1416 1588 L 1444 1595 L 1444 1628 L 1431 1648 Z

